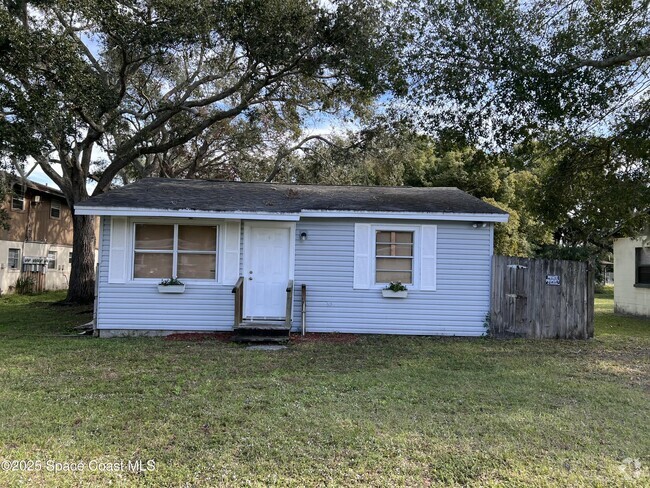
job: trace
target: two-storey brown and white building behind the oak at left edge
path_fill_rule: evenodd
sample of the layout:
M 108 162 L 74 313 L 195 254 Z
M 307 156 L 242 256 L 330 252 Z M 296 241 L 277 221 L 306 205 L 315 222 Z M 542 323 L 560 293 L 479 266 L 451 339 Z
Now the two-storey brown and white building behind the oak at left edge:
M 63 194 L 33 181 L 15 180 L 2 202 L 9 230 L 0 229 L 0 292 L 20 276 L 37 288 L 68 287 L 72 263 L 72 214 Z

